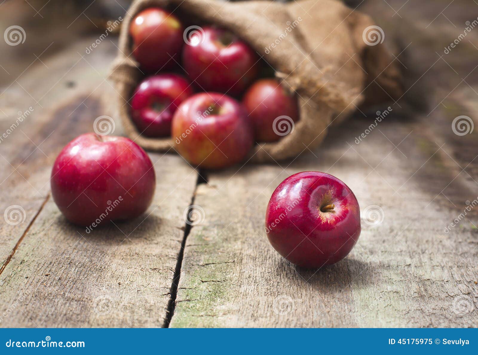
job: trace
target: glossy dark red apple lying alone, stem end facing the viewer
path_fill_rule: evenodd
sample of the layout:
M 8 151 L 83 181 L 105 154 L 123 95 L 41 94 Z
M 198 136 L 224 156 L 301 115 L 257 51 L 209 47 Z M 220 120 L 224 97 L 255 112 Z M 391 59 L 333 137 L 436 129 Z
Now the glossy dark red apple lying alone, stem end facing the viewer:
M 359 239 L 359 203 L 337 177 L 304 171 L 287 177 L 272 193 L 265 227 L 274 249 L 291 263 L 335 264 Z

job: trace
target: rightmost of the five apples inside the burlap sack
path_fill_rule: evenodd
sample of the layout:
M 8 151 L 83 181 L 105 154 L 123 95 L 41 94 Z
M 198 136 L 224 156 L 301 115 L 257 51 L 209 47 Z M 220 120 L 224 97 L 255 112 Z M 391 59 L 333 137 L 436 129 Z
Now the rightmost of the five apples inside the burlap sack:
M 278 141 L 299 119 L 297 98 L 276 79 L 256 81 L 244 94 L 242 103 L 249 113 L 257 142 Z

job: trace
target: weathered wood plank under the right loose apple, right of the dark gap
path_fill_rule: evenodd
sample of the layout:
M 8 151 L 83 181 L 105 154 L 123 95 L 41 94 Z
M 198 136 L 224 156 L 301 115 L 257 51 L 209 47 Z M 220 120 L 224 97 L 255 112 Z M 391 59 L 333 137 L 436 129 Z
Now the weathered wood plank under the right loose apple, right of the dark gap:
M 248 166 L 236 174 L 211 174 L 209 184 L 199 186 L 195 204 L 205 219 L 187 238 L 171 326 L 477 325 L 476 310 L 475 315 L 456 313 L 460 298 L 476 301 L 476 230 L 463 223 L 445 234 L 459 209 L 444 204 L 444 198 L 432 202 L 435 192 L 421 186 L 426 177 L 428 184 L 443 188 L 454 176 L 430 177 L 439 161 L 415 151 L 417 137 L 407 137 L 411 129 L 402 122 L 382 122 L 380 131 L 354 144 L 354 134 L 368 124 L 360 120 L 342 127 L 327 138 L 327 149 L 314 152 L 317 158 L 299 158 L 285 171 Z M 408 159 L 385 136 L 394 144 L 405 138 L 398 149 Z M 359 242 L 346 260 L 319 270 L 295 268 L 282 259 L 263 226 L 273 189 L 304 170 L 343 179 L 362 211 L 379 205 L 384 216 L 379 225 L 362 222 Z M 461 180 L 451 185 L 462 186 Z

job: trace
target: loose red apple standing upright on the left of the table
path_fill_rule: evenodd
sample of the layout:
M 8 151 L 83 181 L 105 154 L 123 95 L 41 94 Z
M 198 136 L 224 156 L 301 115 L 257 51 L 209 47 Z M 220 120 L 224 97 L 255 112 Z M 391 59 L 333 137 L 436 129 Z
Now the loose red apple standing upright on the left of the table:
M 155 180 L 151 159 L 138 144 L 86 133 L 56 157 L 51 188 L 67 220 L 91 226 L 141 215 L 151 204 Z

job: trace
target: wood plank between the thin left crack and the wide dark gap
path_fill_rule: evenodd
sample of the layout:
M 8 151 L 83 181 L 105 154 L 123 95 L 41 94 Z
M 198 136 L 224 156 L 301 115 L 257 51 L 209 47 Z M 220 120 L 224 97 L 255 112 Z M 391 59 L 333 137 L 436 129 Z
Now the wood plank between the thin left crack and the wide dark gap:
M 151 155 L 152 207 L 136 220 L 87 234 L 49 200 L 0 276 L 2 326 L 158 327 L 169 302 L 196 172 Z

